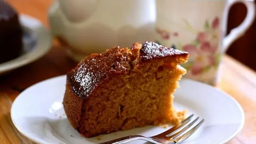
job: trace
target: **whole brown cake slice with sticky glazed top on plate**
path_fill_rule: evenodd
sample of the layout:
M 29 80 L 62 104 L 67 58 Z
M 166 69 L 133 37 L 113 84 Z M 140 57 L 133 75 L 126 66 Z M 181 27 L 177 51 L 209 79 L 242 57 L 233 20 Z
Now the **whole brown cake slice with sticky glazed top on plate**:
M 188 53 L 154 42 L 92 54 L 67 74 L 64 110 L 85 137 L 160 124 L 176 124 L 173 107 Z

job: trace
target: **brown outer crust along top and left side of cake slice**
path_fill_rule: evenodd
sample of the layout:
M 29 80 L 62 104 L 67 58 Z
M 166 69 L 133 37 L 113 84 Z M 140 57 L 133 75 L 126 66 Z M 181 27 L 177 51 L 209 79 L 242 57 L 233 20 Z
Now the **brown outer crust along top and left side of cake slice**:
M 168 57 L 166 60 L 171 58 L 174 63 L 179 64 L 186 62 L 188 53 L 166 48 L 154 42 L 145 42 L 135 43 L 131 48 L 112 48 L 101 54 L 92 54 L 84 58 L 67 74 L 63 105 L 70 124 L 84 136 L 95 136 L 95 133 L 81 132 L 80 127 L 86 102 L 93 98 L 98 88 L 113 76 L 128 75 L 131 70 L 138 69 L 137 66 L 166 57 Z M 104 133 L 106 132 L 102 132 Z

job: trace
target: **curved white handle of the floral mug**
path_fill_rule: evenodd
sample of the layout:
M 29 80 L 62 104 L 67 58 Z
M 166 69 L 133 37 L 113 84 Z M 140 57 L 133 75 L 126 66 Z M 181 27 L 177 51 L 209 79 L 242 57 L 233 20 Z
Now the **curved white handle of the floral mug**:
M 252 25 L 252 22 L 254 22 L 254 18 L 255 18 L 254 0 L 228 0 L 228 4 L 227 4 L 228 10 L 233 4 L 238 2 L 242 2 L 246 6 L 247 8 L 246 18 L 238 27 L 233 28 L 230 31 L 230 34 L 224 37 L 223 43 L 222 43 L 223 52 L 227 51 L 228 47 L 232 44 L 232 42 L 234 42 L 235 40 L 243 36 L 246 30 Z M 226 11 L 226 15 L 228 15 L 228 11 Z M 225 24 L 224 26 L 227 26 L 227 25 Z

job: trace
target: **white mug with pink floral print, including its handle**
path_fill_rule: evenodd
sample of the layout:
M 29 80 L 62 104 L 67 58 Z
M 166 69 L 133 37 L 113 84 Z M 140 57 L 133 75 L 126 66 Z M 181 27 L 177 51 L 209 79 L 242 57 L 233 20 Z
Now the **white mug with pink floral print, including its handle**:
M 242 2 L 247 15 L 240 26 L 227 30 L 228 11 Z M 242 36 L 255 17 L 254 0 L 156 0 L 155 40 L 189 52 L 185 78 L 210 85 L 219 80 L 222 55 Z

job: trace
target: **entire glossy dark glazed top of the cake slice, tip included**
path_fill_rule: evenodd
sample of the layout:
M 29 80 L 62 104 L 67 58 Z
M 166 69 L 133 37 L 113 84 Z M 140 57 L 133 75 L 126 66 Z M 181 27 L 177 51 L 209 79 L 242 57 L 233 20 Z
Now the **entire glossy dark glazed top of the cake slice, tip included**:
M 166 48 L 154 42 L 143 43 L 139 52 L 137 52 L 138 46 L 139 44 L 134 44 L 131 49 L 116 47 L 86 57 L 68 73 L 67 82 L 70 83 L 74 93 L 84 99 L 111 75 L 128 74 L 135 59 L 143 62 L 165 56 L 188 55 L 187 52 Z

